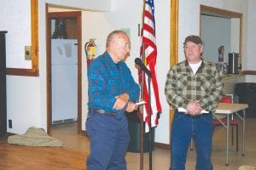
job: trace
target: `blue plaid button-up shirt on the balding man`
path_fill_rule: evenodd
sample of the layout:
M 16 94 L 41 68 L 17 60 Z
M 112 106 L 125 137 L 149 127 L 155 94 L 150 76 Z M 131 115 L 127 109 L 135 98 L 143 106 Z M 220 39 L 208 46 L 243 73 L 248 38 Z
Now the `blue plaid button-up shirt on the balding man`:
M 128 66 L 124 61 L 115 64 L 108 52 L 90 63 L 87 76 L 89 108 L 118 112 L 112 109 L 115 96 L 126 93 L 134 102 L 139 97 L 140 88 L 131 76 Z

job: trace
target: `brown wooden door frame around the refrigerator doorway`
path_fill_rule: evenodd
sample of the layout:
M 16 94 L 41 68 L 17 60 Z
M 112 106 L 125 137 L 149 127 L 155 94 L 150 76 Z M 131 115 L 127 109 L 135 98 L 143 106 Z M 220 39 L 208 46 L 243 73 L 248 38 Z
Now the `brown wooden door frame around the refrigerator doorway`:
M 51 94 L 51 22 L 56 18 L 76 18 L 77 19 L 77 39 L 78 39 L 78 134 L 82 133 L 82 32 L 81 32 L 81 11 L 72 12 L 48 12 L 48 4 L 46 4 L 46 62 L 47 62 L 47 133 L 52 134 L 52 94 Z

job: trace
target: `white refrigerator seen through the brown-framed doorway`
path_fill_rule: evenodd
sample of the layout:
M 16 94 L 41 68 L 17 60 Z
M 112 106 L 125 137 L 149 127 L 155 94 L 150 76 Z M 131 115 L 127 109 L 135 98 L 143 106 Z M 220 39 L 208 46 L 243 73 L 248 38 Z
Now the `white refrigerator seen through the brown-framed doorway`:
M 78 41 L 51 40 L 52 123 L 78 117 Z

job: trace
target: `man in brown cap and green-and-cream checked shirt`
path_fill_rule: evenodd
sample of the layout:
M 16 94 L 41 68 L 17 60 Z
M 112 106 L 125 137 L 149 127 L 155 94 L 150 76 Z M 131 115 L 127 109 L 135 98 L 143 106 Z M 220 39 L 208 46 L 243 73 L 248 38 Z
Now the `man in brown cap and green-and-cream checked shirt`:
M 191 138 L 195 141 L 195 170 L 212 170 L 212 112 L 222 97 L 223 77 L 216 65 L 202 59 L 200 37 L 186 37 L 183 44 L 186 59 L 174 65 L 166 78 L 166 99 L 175 109 L 170 170 L 185 170 Z

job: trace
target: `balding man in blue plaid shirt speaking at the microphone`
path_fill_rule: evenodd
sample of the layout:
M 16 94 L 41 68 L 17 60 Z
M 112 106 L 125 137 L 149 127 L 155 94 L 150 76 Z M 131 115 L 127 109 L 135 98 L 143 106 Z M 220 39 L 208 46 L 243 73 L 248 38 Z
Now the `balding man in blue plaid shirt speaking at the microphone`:
M 124 61 L 130 50 L 131 42 L 125 32 L 113 31 L 108 35 L 106 52 L 88 68 L 87 170 L 126 169 L 130 134 L 124 113 L 137 110 L 135 102 L 140 93 Z

